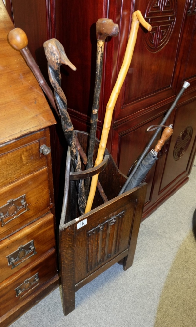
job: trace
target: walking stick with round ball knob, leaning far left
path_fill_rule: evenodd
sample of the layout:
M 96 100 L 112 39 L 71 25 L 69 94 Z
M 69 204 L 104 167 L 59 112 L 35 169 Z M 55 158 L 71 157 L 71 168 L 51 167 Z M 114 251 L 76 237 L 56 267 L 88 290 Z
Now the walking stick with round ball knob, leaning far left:
M 12 45 L 12 47 L 15 50 L 20 51 L 20 53 L 24 57 L 27 65 L 29 66 L 29 68 L 33 72 L 35 78 L 37 79 L 40 87 L 42 88 L 42 90 L 44 91 L 46 96 L 48 97 L 52 107 L 55 109 L 56 113 L 59 116 L 59 112 L 58 112 L 57 107 L 55 105 L 53 93 L 52 93 L 48 83 L 46 82 L 45 78 L 43 77 L 43 74 L 41 73 L 41 71 L 39 69 L 39 66 L 36 64 L 36 62 L 35 62 L 32 54 L 31 54 L 29 48 L 27 47 L 28 38 L 27 38 L 26 33 L 21 28 L 14 28 L 13 30 L 11 30 L 9 32 L 8 40 L 9 40 L 9 43 Z M 87 156 L 84 153 L 84 151 L 83 151 L 77 137 L 76 137 L 76 146 L 77 146 L 77 149 L 79 151 L 79 154 L 80 154 L 80 156 L 82 158 L 82 161 L 83 161 L 84 165 L 86 165 L 87 164 Z

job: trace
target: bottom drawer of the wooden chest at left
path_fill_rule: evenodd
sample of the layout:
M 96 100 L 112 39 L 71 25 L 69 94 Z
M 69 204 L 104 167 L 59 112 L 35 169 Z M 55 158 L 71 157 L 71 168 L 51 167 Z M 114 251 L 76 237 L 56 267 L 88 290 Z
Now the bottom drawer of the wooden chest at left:
M 33 264 L 28 264 L 4 282 L 0 283 L 0 317 L 10 311 L 20 301 L 37 290 L 57 273 L 55 249 L 49 250 Z M 37 275 L 36 275 L 37 274 Z M 37 280 L 36 281 L 36 279 Z M 28 281 L 28 279 L 30 279 Z M 20 286 L 20 287 L 19 287 Z M 24 292 L 17 296 L 17 288 Z

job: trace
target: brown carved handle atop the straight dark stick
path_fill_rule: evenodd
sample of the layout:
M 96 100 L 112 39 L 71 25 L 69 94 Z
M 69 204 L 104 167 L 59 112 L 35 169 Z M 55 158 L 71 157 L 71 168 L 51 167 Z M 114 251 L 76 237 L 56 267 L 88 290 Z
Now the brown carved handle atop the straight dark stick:
M 97 40 L 103 40 L 107 36 L 117 36 L 119 33 L 119 26 L 114 24 L 113 20 L 109 18 L 99 18 L 96 22 L 96 36 Z

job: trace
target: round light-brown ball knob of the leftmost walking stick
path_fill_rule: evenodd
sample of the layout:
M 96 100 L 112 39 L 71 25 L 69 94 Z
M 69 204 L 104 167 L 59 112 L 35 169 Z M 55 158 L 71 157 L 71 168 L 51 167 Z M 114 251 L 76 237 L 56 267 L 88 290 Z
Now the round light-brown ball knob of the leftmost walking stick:
M 26 33 L 21 28 L 15 28 L 8 34 L 9 43 L 15 50 L 22 50 L 28 45 Z

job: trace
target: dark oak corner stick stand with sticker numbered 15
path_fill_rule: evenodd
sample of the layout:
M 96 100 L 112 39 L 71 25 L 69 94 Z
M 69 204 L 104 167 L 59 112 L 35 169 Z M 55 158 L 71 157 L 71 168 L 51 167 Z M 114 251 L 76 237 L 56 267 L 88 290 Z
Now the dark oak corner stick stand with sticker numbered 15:
M 88 134 L 76 131 L 86 152 Z M 94 160 L 99 141 L 96 139 Z M 59 227 L 59 248 L 64 315 L 75 309 L 75 292 L 118 262 L 127 270 L 133 263 L 147 184 L 118 196 L 127 177 L 122 174 L 112 156 L 105 150 L 103 163 L 86 173 L 70 171 L 68 149 L 65 195 Z M 92 210 L 80 216 L 75 179 L 99 174 L 99 181 L 108 198 L 96 191 Z

